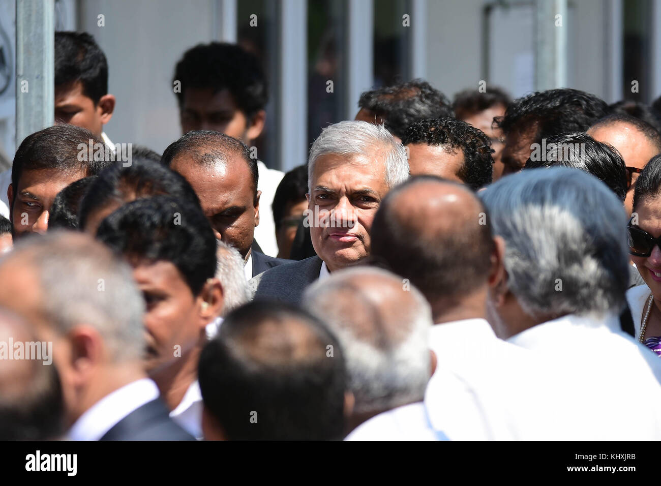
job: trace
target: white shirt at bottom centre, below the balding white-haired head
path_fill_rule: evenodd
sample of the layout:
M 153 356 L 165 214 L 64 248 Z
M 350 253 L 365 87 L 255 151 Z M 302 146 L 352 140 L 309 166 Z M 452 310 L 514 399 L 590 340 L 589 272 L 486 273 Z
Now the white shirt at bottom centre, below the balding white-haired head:
M 432 430 L 422 402 L 379 413 L 360 424 L 344 440 L 446 440 Z

